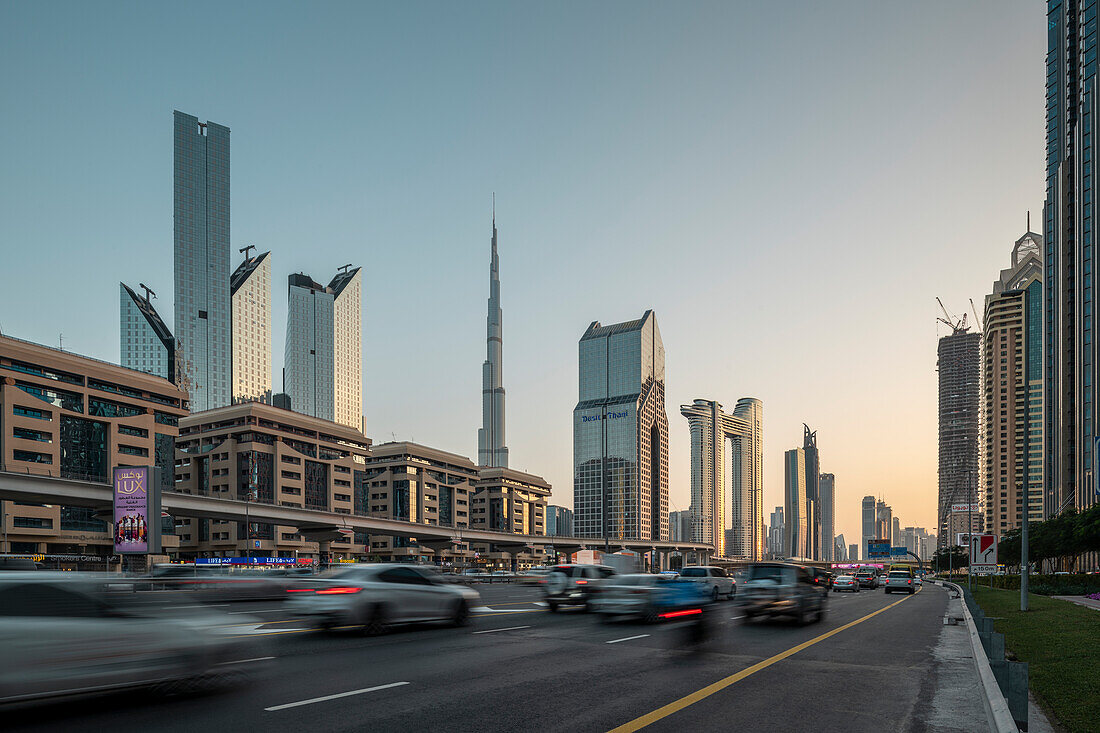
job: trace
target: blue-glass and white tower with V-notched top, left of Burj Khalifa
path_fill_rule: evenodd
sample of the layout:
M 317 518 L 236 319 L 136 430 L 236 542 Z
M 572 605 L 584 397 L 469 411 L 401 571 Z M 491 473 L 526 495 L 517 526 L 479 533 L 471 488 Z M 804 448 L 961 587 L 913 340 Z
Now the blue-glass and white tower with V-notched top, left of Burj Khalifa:
M 350 266 L 327 287 L 290 275 L 283 379 L 296 413 L 361 430 L 362 273 Z

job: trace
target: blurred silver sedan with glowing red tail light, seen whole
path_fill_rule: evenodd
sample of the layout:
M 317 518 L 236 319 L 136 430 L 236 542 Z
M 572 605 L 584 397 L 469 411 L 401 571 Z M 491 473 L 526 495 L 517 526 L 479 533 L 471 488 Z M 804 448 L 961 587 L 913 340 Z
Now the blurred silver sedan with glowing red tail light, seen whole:
M 287 588 L 287 609 L 318 628 L 362 626 L 381 634 L 393 624 L 466 623 L 481 601 L 477 591 L 448 582 L 433 568 L 353 565 Z

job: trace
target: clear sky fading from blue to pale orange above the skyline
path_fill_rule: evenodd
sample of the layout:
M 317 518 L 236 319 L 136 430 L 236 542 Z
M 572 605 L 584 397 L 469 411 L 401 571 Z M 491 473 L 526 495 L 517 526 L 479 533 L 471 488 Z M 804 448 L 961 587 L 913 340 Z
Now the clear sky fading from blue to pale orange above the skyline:
M 172 112 L 232 130 L 232 243 L 364 270 L 375 441 L 476 457 L 496 192 L 514 468 L 572 505 L 576 342 L 653 308 L 674 508 L 693 398 L 817 430 L 836 530 L 935 526 L 935 296 L 1043 204 L 1044 3 L 0 2 L 0 328 L 118 360 L 172 322 Z M 1037 225 L 1036 225 L 1037 226 Z M 971 316 L 972 318 L 972 316 Z M 280 382 L 276 379 L 276 390 Z

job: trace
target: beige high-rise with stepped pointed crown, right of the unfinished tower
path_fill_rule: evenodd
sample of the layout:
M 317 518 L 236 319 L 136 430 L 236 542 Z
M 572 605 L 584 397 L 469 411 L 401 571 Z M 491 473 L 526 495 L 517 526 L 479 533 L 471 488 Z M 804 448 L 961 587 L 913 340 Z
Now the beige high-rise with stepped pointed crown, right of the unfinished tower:
M 1043 519 L 1042 256 L 1043 238 L 1025 232 L 986 296 L 986 527 L 998 536 L 1020 526 L 1024 511 Z

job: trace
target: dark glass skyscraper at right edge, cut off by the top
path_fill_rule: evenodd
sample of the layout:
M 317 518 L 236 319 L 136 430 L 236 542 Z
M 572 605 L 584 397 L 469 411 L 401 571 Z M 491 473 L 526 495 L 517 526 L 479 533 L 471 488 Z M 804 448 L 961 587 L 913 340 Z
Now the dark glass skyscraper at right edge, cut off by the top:
M 1097 503 L 1096 0 L 1047 1 L 1045 514 Z M 998 525 L 1000 524 L 998 517 Z M 999 527 L 998 527 L 999 528 Z M 944 544 L 943 527 L 939 544 Z M 954 541 L 954 537 L 953 537 Z M 1093 562 L 1094 564 L 1094 562 Z

